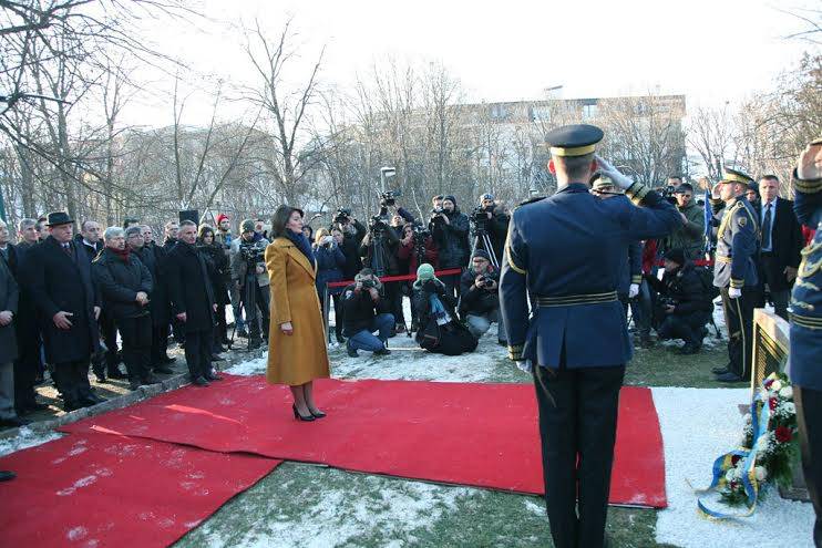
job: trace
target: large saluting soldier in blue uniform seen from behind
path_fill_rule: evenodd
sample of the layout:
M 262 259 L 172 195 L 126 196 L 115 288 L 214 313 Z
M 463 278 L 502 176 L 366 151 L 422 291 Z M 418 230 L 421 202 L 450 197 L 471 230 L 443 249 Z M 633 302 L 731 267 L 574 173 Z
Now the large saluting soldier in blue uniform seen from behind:
M 605 544 L 619 387 L 633 353 L 619 270 L 631 242 L 682 223 L 671 204 L 595 155 L 602 138 L 592 125 L 548 133 L 558 190 L 514 211 L 500 283 L 510 358 L 534 375 L 557 548 Z M 630 200 L 590 194 L 597 169 Z

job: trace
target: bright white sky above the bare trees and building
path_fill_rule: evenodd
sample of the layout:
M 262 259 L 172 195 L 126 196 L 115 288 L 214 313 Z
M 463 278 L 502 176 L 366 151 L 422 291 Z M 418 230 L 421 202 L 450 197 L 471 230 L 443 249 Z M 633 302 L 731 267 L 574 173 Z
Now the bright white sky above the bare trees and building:
M 289 74 L 296 80 L 325 46 L 322 83 L 340 90 L 392 56 L 443 64 L 472 102 L 537 100 L 546 87 L 562 85 L 561 96 L 568 99 L 682 93 L 689 107 L 771 89 L 780 71 L 812 49 L 785 39 L 804 27 L 780 10 L 819 9 L 808 0 L 201 0 L 194 6 L 208 19 L 147 30 L 148 40 L 192 66 L 194 86 L 213 89 L 217 79 L 254 82 L 242 25 L 256 20 L 276 37 L 291 18 L 297 55 Z M 141 123 L 171 121 L 167 100 L 141 106 Z M 207 123 L 209 114 L 205 94 L 192 95 L 187 121 Z

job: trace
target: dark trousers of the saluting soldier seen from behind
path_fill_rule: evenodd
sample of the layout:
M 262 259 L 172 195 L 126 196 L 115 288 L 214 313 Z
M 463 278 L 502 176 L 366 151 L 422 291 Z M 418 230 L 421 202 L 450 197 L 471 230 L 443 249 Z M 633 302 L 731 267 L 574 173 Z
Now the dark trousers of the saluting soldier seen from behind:
M 534 366 L 551 535 L 556 548 L 599 548 L 625 365 L 566 369 L 563 355 L 559 368 Z

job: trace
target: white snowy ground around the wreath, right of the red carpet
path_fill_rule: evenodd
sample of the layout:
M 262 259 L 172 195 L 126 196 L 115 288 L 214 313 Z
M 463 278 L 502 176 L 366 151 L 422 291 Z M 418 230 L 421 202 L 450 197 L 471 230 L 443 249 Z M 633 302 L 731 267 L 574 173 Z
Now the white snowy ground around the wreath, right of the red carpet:
M 653 392 L 665 444 L 669 505 L 658 513 L 658 542 L 682 548 L 812 547 L 813 507 L 784 500 L 777 490 L 767 493 L 749 518 L 713 521 L 697 511 L 688 482 L 693 488 L 707 487 L 713 461 L 736 447 L 742 434 L 738 405 L 748 403 L 750 390 L 658 387 Z M 723 509 L 716 503 L 710 507 Z

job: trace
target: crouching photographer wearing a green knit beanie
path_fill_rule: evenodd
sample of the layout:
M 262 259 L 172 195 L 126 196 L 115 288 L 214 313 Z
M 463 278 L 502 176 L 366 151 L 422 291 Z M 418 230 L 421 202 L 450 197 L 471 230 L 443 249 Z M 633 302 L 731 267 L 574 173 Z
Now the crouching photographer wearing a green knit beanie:
M 417 332 L 420 348 L 445 355 L 460 355 L 476 349 L 476 339 L 456 320 L 456 299 L 434 277 L 434 267 L 427 262 L 417 269 L 411 300 L 420 316 Z

